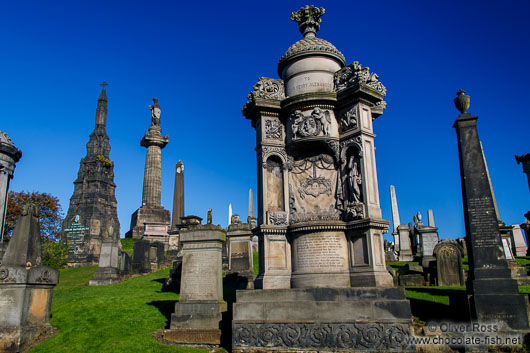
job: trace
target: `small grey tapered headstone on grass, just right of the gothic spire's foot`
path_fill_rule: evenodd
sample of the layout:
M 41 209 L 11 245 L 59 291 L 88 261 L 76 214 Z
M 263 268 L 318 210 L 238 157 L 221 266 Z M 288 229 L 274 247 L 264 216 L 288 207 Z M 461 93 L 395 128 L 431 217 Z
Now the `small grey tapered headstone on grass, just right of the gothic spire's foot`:
M 103 239 L 98 268 L 94 272 L 94 277 L 88 282 L 88 285 L 106 286 L 119 281 L 118 244 L 114 239 Z

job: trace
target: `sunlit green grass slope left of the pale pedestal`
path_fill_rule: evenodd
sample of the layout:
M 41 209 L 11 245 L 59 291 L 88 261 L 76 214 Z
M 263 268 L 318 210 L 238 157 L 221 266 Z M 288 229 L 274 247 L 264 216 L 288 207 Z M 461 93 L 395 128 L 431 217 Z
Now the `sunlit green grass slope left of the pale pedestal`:
M 87 286 L 96 266 L 61 270 L 50 324 L 59 329 L 31 352 L 208 352 L 153 339 L 179 295 L 161 292 L 169 269 L 110 286 Z

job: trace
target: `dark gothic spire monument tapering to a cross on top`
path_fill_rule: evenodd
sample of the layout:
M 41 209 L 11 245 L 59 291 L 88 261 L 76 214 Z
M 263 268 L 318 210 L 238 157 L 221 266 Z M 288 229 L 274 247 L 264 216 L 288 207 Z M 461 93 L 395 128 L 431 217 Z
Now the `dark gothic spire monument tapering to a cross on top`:
M 120 238 L 114 184 L 114 162 L 109 159 L 106 82 L 98 98 L 96 127 L 81 159 L 70 207 L 63 221 L 63 239 L 68 243 L 68 266 L 97 265 L 103 239 Z

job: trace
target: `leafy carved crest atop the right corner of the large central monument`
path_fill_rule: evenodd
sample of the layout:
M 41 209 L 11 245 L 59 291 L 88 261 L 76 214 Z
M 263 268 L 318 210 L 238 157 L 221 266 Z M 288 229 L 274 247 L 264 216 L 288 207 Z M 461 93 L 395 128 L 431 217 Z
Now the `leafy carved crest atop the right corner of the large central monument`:
M 351 86 L 367 86 L 386 96 L 386 87 L 379 82 L 379 76 L 375 72 L 371 73 L 369 67 L 362 67 L 358 61 L 354 61 L 335 73 L 335 91 Z

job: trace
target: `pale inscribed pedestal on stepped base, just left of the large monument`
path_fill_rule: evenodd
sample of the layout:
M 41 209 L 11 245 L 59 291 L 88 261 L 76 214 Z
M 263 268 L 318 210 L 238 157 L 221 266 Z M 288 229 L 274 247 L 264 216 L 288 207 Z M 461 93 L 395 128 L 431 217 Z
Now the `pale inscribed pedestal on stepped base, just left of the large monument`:
M 218 345 L 221 313 L 227 309 L 221 271 L 221 247 L 226 233 L 217 226 L 201 225 L 183 231 L 180 240 L 180 301 L 164 338 L 178 343 Z

